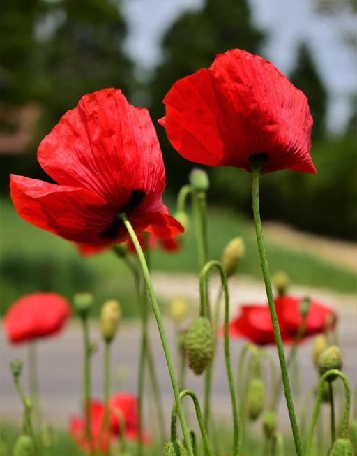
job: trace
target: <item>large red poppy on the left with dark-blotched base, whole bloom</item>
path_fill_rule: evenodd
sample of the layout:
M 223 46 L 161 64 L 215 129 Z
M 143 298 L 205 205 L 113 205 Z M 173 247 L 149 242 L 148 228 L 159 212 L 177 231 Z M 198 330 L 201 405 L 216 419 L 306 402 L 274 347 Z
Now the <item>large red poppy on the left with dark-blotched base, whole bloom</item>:
M 11 198 L 29 223 L 66 240 L 109 246 L 151 226 L 162 239 L 181 233 L 162 204 L 165 168 L 155 128 L 144 108 L 121 91 L 82 97 L 38 148 L 38 161 L 58 184 L 11 175 Z

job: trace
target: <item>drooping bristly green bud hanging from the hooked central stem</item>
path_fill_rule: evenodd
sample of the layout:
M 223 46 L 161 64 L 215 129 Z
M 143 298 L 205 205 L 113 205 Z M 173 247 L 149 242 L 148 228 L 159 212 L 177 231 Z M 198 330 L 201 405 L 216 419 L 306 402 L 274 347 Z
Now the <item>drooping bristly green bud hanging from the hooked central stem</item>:
M 213 358 L 215 337 L 208 318 L 199 316 L 185 335 L 188 364 L 196 375 L 202 374 Z

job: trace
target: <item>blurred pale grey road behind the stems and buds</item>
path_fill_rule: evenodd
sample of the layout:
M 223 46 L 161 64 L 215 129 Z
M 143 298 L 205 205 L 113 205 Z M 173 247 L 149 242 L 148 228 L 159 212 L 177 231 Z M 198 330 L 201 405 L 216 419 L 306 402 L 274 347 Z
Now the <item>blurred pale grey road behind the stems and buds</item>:
M 161 299 L 167 300 L 175 295 L 183 295 L 192 302 L 198 302 L 198 283 L 192 276 L 167 277 L 165 274 L 155 274 L 155 289 Z M 218 282 L 212 279 L 213 295 L 218 288 Z M 238 303 L 264 302 L 264 287 L 262 284 L 241 277 L 230 283 L 231 311 L 238 311 Z M 294 288 L 291 294 L 313 295 L 315 298 L 331 305 L 340 315 L 338 335 L 344 355 L 344 372 L 349 376 L 353 385 L 357 378 L 357 301 L 354 296 L 337 295 L 330 292 Z M 135 305 L 135 304 L 133 304 Z M 174 334 L 172 323 L 165 321 L 172 353 L 175 353 Z M 91 327 L 92 339 L 98 343 L 98 351 L 93 356 L 93 396 L 101 397 L 102 392 L 102 346 L 98 325 Z M 172 392 L 168 380 L 167 367 L 163 358 L 158 331 L 155 322 L 151 321 L 150 339 L 153 348 L 155 365 L 160 380 L 160 389 L 165 403 L 165 411 L 169 415 L 172 407 Z M 6 342 L 3 329 L 0 332 L 1 343 L 1 418 L 18 418 L 21 413 L 20 401 L 15 395 L 8 365 L 10 360 L 18 358 L 25 363 L 24 384 L 26 386 L 26 348 L 9 346 Z M 236 369 L 238 351 L 242 342 L 231 341 L 231 355 Z M 272 353 L 274 349 L 272 348 Z M 135 392 L 137 376 L 137 358 L 139 352 L 139 323 L 130 322 L 122 325 L 119 335 L 113 346 L 113 388 L 115 390 Z M 303 377 L 303 391 L 307 391 L 316 381 L 316 372 L 312 367 L 310 342 L 301 346 L 299 358 Z M 78 413 L 80 407 L 80 381 L 82 360 L 82 337 L 78 323 L 68 325 L 68 328 L 59 337 L 49 339 L 38 344 L 40 390 L 42 395 L 43 411 L 50 422 L 66 426 L 68 417 Z M 188 385 L 199 395 L 202 394 L 202 378 L 192 374 L 188 376 Z M 149 388 L 148 388 L 149 389 Z M 148 404 L 148 402 L 146 402 Z M 280 401 L 281 413 L 285 413 L 284 401 Z M 215 413 L 229 415 L 229 392 L 225 375 L 225 363 L 222 354 L 222 340 L 220 341 L 218 361 L 215 367 L 213 384 L 213 410 Z M 147 410 L 150 412 L 150 410 Z M 283 422 L 283 421 L 282 421 Z M 287 422 L 284 420 L 284 422 Z

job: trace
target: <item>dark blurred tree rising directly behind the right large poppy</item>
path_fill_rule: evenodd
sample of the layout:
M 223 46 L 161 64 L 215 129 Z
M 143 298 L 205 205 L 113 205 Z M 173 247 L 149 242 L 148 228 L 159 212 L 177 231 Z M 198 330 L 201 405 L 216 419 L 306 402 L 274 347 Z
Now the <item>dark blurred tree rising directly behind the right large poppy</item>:
M 184 13 L 162 39 L 162 61 L 150 85 L 154 122 L 164 115 L 162 99 L 176 80 L 209 66 L 215 54 L 234 47 L 257 53 L 264 37 L 252 24 L 246 0 L 206 0 L 202 10 Z M 178 188 L 186 182 L 192 164 L 173 151 L 161 127 L 158 136 L 169 182 Z

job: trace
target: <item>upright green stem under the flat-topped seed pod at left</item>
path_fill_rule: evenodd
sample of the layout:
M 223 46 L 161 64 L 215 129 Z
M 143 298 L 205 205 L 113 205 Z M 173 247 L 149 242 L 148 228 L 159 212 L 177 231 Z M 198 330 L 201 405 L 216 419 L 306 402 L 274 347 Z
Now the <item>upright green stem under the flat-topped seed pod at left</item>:
M 82 314 L 82 331 L 84 343 L 84 362 L 83 362 L 83 404 L 84 404 L 84 429 L 86 439 L 91 447 L 93 454 L 93 445 L 91 438 L 91 341 L 89 340 L 89 321 L 88 315 Z

